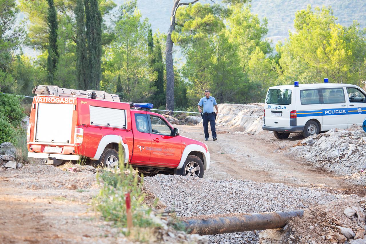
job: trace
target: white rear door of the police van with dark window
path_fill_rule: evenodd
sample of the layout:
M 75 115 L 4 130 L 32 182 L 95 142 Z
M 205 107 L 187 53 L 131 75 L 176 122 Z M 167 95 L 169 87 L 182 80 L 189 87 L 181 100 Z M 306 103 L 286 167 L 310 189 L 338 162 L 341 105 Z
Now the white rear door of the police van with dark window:
M 269 89 L 266 97 L 265 125 L 269 127 L 290 127 L 290 112 L 295 110 L 292 106 L 293 92 L 291 89 Z M 293 108 L 293 109 L 292 109 Z

